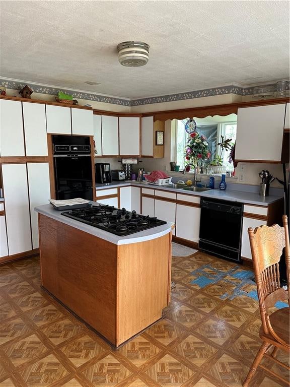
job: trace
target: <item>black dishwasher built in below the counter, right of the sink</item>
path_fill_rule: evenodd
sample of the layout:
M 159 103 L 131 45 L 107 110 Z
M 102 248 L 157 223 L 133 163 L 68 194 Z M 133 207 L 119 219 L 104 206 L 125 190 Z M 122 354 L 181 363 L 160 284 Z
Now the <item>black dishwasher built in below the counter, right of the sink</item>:
M 199 249 L 240 262 L 243 204 L 201 198 L 200 207 Z

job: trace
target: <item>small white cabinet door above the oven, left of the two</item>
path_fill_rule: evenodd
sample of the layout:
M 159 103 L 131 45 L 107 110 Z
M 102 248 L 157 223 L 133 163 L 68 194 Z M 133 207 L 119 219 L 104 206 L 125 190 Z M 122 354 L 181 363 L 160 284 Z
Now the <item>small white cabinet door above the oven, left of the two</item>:
M 71 135 L 70 107 L 46 105 L 47 133 Z

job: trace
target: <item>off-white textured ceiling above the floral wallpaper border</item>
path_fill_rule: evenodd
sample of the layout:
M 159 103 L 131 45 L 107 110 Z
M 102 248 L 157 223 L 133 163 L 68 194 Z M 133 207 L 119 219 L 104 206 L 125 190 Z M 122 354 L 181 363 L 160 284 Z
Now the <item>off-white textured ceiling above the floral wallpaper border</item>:
M 0 10 L 3 77 L 128 98 L 289 77 L 286 1 L 5 1 Z M 150 45 L 146 66 L 118 63 L 127 40 Z

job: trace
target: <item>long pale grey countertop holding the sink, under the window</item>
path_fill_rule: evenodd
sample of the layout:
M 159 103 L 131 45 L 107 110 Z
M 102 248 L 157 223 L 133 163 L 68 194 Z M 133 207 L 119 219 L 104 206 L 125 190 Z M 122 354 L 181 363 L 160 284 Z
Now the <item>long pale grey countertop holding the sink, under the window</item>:
M 236 191 L 236 190 L 230 190 L 230 189 L 226 189 L 225 191 L 222 191 L 219 188 L 211 189 L 209 191 L 204 191 L 204 192 L 193 192 L 193 191 L 188 191 L 180 188 L 170 188 L 170 186 L 160 186 L 160 185 L 149 184 L 147 182 L 137 182 L 132 180 L 114 181 L 109 184 L 96 184 L 96 189 L 97 190 L 106 189 L 106 188 L 108 189 L 108 188 L 116 188 L 120 186 L 130 186 L 130 185 L 143 187 L 143 188 L 168 190 L 176 193 L 181 193 L 182 195 L 193 195 L 193 196 L 199 196 L 202 198 L 228 200 L 231 202 L 254 204 L 258 206 L 268 206 L 269 204 L 283 198 L 282 196 L 274 196 L 274 195 L 263 197 L 258 195 L 258 193 L 247 192 L 247 191 Z

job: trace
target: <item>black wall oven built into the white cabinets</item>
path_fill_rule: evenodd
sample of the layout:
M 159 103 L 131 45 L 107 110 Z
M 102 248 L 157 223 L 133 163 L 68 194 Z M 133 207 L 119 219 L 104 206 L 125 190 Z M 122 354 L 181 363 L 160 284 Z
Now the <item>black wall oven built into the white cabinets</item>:
M 55 197 L 57 200 L 93 200 L 90 138 L 52 136 Z

